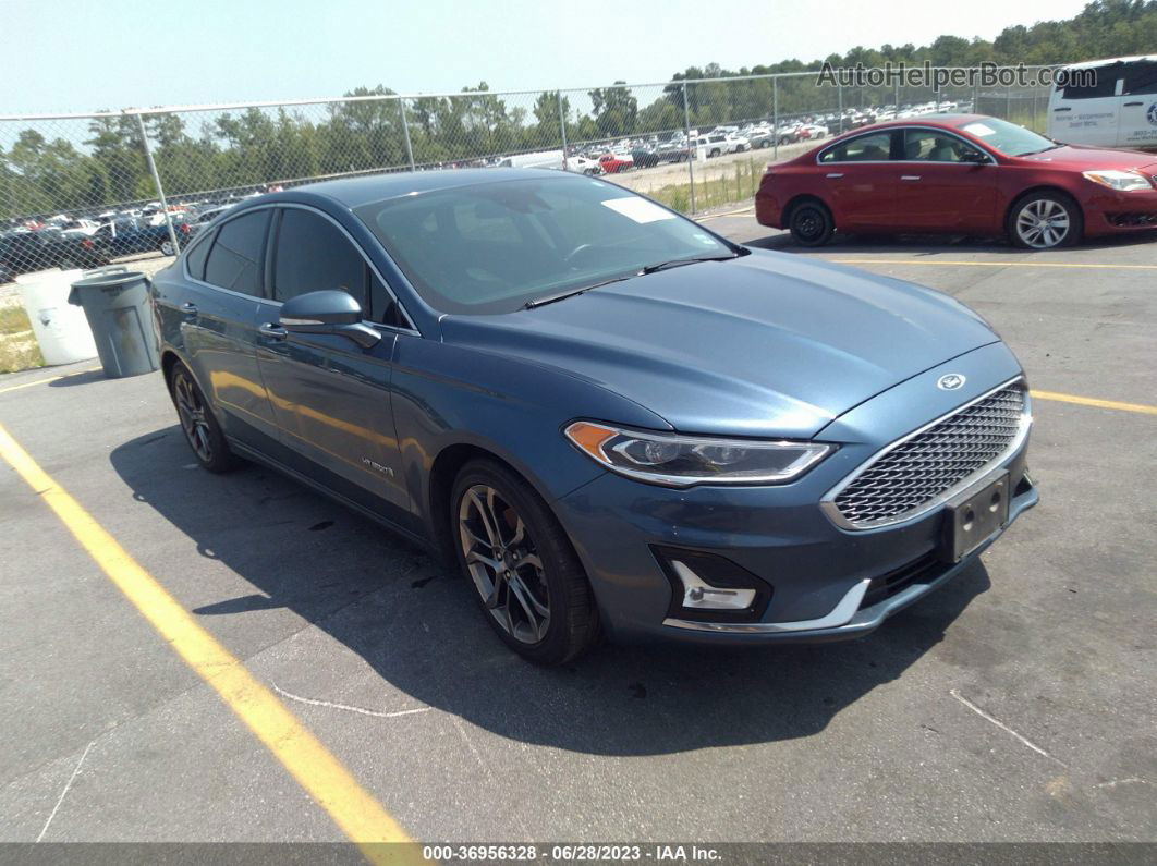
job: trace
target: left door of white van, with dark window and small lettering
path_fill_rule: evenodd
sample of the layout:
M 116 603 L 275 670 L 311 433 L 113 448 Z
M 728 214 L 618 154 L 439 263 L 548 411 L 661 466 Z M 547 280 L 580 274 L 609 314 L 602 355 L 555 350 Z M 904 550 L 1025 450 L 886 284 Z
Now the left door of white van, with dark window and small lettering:
M 1070 71 L 1070 80 L 1057 84 L 1048 103 L 1048 135 L 1066 145 L 1115 147 L 1120 124 L 1120 61 L 1082 66 Z M 1095 81 L 1078 80 L 1095 73 Z

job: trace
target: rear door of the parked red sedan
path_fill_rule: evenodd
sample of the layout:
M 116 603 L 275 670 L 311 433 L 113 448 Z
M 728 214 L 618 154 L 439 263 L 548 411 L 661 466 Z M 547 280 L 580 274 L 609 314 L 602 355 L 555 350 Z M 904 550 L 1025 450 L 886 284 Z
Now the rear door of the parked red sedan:
M 899 172 L 891 161 L 893 132 L 845 139 L 820 151 L 823 199 L 840 229 L 889 229 L 896 223 Z

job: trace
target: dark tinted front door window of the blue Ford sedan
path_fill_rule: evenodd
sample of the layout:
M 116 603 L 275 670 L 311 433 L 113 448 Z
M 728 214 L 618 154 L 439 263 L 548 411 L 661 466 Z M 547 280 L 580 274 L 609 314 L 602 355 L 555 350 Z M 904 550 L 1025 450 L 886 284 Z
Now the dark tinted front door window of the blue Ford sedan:
M 299 208 L 281 212 L 273 262 L 273 298 L 289 301 L 307 291 L 340 289 L 362 309 L 366 297 L 366 259 L 329 220 Z

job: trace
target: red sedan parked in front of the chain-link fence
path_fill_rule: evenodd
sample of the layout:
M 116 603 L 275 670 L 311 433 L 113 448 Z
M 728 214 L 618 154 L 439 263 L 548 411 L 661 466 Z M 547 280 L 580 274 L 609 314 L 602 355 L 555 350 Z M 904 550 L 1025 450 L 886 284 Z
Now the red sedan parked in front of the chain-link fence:
M 1003 232 L 1045 250 L 1157 228 L 1157 155 L 1060 145 L 983 114 L 926 116 L 768 166 L 756 216 L 808 246 L 837 230 Z

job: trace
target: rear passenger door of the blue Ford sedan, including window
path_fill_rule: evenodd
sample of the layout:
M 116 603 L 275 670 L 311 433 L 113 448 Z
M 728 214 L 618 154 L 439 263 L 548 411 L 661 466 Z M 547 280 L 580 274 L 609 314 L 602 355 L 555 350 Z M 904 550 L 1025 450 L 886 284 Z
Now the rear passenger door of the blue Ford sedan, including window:
M 220 409 L 226 432 L 263 451 L 278 435 L 257 368 L 257 310 L 272 213 L 246 210 L 190 250 L 186 288 L 179 297 L 167 297 L 168 309 L 161 311 L 177 320 L 193 375 Z

